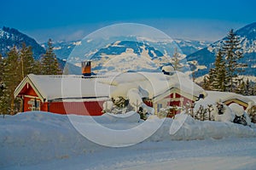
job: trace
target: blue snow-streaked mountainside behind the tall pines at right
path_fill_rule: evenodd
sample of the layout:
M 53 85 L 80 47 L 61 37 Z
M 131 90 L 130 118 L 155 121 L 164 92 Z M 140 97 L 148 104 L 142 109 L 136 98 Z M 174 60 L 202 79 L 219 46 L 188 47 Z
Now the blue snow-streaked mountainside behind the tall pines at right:
M 241 38 L 241 48 L 244 53 L 244 58 L 241 59 L 241 62 L 248 65 L 243 74 L 256 77 L 256 22 L 242 27 L 235 33 Z M 194 63 L 197 68 L 195 77 L 201 77 L 208 73 L 215 61 L 215 53 L 224 43 L 225 38 L 187 56 L 187 61 Z

